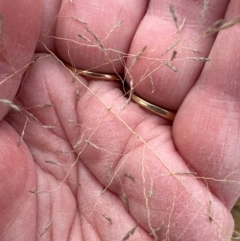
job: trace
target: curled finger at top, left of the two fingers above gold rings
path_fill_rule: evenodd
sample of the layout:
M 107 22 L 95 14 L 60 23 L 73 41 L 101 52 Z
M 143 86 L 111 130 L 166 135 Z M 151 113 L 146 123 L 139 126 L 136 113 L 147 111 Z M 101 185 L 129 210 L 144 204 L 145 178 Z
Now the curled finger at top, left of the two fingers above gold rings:
M 57 25 L 60 57 L 82 69 L 123 72 L 147 1 L 64 0 Z

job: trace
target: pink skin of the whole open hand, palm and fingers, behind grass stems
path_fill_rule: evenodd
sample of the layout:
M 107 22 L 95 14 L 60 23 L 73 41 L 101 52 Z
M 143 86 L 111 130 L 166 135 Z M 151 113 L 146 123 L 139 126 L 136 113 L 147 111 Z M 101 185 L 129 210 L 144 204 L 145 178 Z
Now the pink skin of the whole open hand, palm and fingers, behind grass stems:
M 159 240 L 229 240 L 230 210 L 240 192 L 240 25 L 191 46 L 211 62 L 186 60 L 196 55 L 181 47 L 216 20 L 234 18 L 240 2 L 220 6 L 211 1 L 201 20 L 202 1 L 176 1 L 179 21 L 181 16 L 187 20 L 177 35 L 167 0 L 145 1 L 142 6 L 138 0 L 113 1 L 111 6 L 108 0 L 53 2 L 0 3 L 0 81 L 40 57 L 29 68 L 16 99 L 38 121 L 29 117 L 26 122 L 26 112 L 6 115 L 6 105 L 0 104 L 0 239 L 123 240 L 138 224 L 129 240 L 153 240 L 149 233 L 159 227 Z M 114 65 L 106 64 L 102 50 L 86 47 L 77 34 L 94 38 L 71 17 L 87 22 L 99 39 L 123 20 L 103 41 Z M 44 35 L 49 29 L 57 40 L 40 36 L 40 29 Z M 64 61 L 82 69 L 99 66 L 98 71 L 107 73 L 124 71 L 119 53 L 111 49 L 133 56 L 147 45 L 144 58 L 126 73 L 127 81 L 133 78 L 136 93 L 144 99 L 178 110 L 173 125 L 134 103 L 122 110 L 126 98 L 118 83 L 80 76 L 73 81 L 54 57 L 41 54 L 46 53 L 41 44 L 33 55 L 39 36 Z M 179 71 L 165 65 L 154 71 L 151 94 L 152 85 L 142 76 L 148 66 L 153 71 L 161 63 L 151 64 L 150 58 L 161 56 L 180 37 L 187 41 L 176 46 L 181 61 L 173 63 Z M 133 58 L 126 60 L 128 68 Z M 14 99 L 22 74 L 1 84 L 0 99 Z M 38 107 L 42 104 L 52 106 Z M 25 124 L 24 141 L 18 146 Z M 95 146 L 83 141 L 73 151 L 81 137 Z M 197 175 L 176 173 L 190 171 Z

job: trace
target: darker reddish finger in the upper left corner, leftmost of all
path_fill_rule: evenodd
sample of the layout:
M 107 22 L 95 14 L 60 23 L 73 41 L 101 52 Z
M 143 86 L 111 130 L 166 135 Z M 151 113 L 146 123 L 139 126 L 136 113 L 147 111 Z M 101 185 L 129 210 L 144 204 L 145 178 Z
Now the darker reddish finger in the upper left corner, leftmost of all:
M 31 11 L 29 10 L 31 9 Z M 0 3 L 0 99 L 12 101 L 32 59 L 41 26 L 41 1 Z M 0 102 L 0 120 L 9 106 Z

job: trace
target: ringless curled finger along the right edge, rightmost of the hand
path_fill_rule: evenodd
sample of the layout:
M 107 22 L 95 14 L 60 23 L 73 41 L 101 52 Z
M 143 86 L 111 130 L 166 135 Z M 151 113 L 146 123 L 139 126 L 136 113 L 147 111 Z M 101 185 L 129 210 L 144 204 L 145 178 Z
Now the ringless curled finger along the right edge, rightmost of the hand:
M 238 1 L 231 1 L 225 18 L 234 19 L 239 7 Z M 174 126 L 181 155 L 229 209 L 240 191 L 239 31 L 236 25 L 218 34 L 210 53 L 214 61 L 204 67 Z

